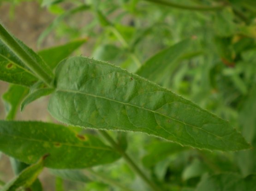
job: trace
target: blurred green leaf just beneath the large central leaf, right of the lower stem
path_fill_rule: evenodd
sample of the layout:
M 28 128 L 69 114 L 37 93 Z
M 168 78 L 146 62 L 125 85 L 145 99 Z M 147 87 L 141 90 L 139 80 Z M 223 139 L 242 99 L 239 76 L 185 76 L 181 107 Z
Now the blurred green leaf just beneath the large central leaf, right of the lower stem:
M 144 166 L 152 167 L 169 155 L 186 149 L 188 148 L 175 143 L 155 141 L 147 146 L 146 150 L 148 154 L 143 157 L 142 162 Z

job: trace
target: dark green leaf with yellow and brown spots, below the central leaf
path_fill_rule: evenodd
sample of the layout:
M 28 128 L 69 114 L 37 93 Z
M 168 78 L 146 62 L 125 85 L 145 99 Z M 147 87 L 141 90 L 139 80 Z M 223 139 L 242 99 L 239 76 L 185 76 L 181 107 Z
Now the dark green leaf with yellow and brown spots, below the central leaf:
M 45 166 L 54 169 L 86 168 L 119 158 L 92 135 L 42 122 L 0 121 L 0 150 L 24 163 L 35 163 L 49 154 Z

